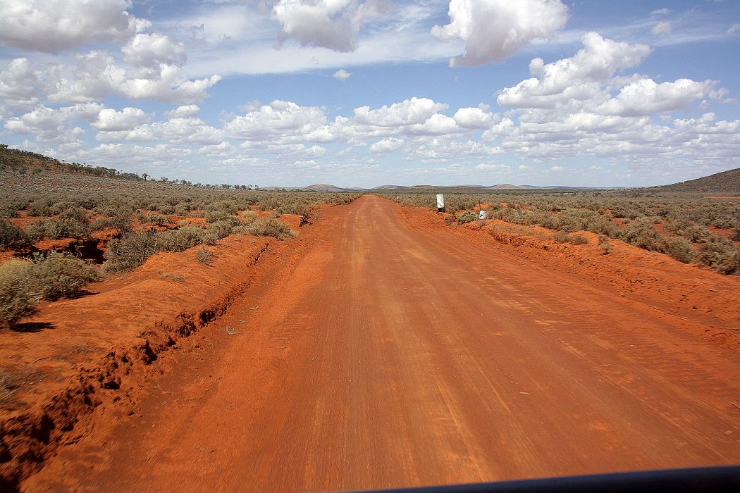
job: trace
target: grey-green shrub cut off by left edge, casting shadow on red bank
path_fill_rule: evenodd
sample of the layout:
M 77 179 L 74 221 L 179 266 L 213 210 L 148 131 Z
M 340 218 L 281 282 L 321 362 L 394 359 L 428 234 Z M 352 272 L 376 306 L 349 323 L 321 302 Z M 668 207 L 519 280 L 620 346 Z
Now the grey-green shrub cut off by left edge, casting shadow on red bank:
M 0 264 L 0 326 L 14 327 L 36 312 L 36 299 L 28 289 L 30 262 L 10 259 Z

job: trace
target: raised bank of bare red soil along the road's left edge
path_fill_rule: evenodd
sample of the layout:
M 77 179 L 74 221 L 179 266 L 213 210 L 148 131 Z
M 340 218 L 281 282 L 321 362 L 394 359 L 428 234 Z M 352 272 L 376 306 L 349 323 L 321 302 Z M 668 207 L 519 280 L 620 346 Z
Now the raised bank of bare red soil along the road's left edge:
M 64 429 L 98 405 L 130 401 L 142 382 L 128 374 L 223 310 L 270 243 L 223 239 L 209 248 L 210 265 L 196 261 L 194 249 L 156 254 L 132 273 L 90 285 L 89 296 L 42 303 L 21 325 L 26 332 L 1 330 L 0 372 L 23 384 L 0 401 L 0 452 L 13 457 L 0 463 L 0 478 L 36 469 L 58 443 L 84 432 Z

